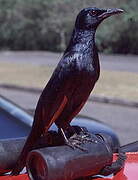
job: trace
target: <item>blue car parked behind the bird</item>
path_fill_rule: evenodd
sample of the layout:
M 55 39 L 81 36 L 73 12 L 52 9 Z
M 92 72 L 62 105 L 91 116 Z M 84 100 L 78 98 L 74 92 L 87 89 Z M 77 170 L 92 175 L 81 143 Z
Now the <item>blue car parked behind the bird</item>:
M 17 138 L 27 136 L 33 123 L 32 113 L 28 113 L 21 107 L 0 96 L 0 139 Z M 92 133 L 107 133 L 118 144 L 116 133 L 106 124 L 92 117 L 77 116 L 72 121 L 72 125 L 86 127 Z M 56 130 L 53 124 L 52 130 Z

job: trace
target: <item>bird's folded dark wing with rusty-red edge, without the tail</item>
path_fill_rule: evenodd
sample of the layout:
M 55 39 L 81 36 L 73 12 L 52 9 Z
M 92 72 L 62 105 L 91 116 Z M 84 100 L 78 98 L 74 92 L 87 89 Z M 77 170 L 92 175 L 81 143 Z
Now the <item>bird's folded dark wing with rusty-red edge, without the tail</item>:
M 35 128 L 49 129 L 58 118 L 73 92 L 76 63 L 72 56 L 64 56 L 44 88 L 36 107 Z

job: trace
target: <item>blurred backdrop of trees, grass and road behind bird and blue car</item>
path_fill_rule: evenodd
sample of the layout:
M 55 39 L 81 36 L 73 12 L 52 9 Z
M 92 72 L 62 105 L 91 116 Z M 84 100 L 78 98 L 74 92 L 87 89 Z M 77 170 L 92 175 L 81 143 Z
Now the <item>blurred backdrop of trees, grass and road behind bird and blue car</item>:
M 80 114 L 107 123 L 122 144 L 138 140 L 137 0 L 0 0 L 0 95 L 34 110 L 76 15 L 89 6 L 125 12 L 97 30 L 101 76 Z

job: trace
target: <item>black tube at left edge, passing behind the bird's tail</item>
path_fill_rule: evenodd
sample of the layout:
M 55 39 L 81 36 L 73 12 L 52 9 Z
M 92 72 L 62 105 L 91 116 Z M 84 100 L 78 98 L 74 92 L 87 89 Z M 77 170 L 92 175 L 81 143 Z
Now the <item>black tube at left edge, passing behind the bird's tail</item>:
M 49 131 L 45 136 L 39 139 L 35 148 L 42 148 L 52 145 L 61 144 L 58 141 L 59 135 L 55 131 Z M 26 137 L 11 138 L 0 140 L 0 175 L 13 169 L 16 161 L 23 149 Z

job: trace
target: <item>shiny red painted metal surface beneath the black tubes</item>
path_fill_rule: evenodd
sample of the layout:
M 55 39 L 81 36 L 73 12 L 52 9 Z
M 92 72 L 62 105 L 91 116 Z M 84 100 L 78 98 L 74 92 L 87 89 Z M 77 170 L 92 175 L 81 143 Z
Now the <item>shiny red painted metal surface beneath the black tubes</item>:
M 97 178 L 95 180 L 137 180 L 138 179 L 138 153 L 127 153 L 125 167 L 116 176 Z M 29 180 L 26 174 L 19 176 L 1 176 L 0 180 Z

